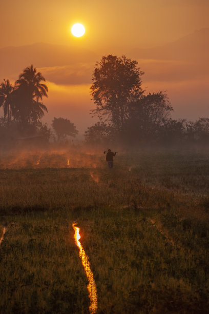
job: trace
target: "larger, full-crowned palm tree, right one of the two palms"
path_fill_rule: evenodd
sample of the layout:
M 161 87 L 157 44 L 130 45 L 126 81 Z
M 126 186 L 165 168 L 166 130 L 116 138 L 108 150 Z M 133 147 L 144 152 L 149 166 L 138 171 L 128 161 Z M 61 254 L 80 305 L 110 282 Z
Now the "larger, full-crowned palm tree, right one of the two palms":
M 40 83 L 46 81 L 44 76 L 31 65 L 24 69 L 15 82 L 16 117 L 25 122 L 36 123 L 44 116 L 47 107 L 40 102 L 47 97 L 48 87 Z

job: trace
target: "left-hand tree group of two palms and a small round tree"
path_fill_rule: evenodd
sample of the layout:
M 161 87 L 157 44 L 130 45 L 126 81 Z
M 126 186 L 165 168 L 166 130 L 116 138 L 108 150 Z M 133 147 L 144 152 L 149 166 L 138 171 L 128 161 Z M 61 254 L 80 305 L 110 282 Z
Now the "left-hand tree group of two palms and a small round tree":
M 48 96 L 48 87 L 43 82 L 46 82 L 45 77 L 31 65 L 20 73 L 14 86 L 9 80 L 0 84 L 0 107 L 4 112 L 0 119 L 0 138 L 8 140 L 14 134 L 38 134 L 45 142 L 49 141 L 51 129 L 41 123 L 41 118 L 48 112 L 43 104 L 43 97 Z M 54 117 L 52 127 L 58 141 L 78 133 L 70 120 L 61 117 Z

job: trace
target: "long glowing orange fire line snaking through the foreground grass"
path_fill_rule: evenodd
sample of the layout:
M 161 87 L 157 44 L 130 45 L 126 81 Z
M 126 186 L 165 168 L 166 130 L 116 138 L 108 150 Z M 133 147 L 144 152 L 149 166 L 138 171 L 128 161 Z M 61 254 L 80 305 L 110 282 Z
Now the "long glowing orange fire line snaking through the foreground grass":
M 81 259 L 82 262 L 82 266 L 85 269 L 89 284 L 87 286 L 87 289 L 89 291 L 89 298 L 90 298 L 90 306 L 89 306 L 89 311 L 90 313 L 95 313 L 97 310 L 97 291 L 96 291 L 96 284 L 94 281 L 94 277 L 93 277 L 93 272 L 91 271 L 90 268 L 90 263 L 89 263 L 89 259 L 88 256 L 85 253 L 85 250 L 83 249 L 79 239 L 80 239 L 80 234 L 79 234 L 79 230 L 80 228 L 76 227 L 77 223 L 73 223 L 73 229 L 75 231 L 74 234 L 74 239 L 75 239 L 75 243 L 77 245 L 77 247 L 79 248 L 79 258 Z

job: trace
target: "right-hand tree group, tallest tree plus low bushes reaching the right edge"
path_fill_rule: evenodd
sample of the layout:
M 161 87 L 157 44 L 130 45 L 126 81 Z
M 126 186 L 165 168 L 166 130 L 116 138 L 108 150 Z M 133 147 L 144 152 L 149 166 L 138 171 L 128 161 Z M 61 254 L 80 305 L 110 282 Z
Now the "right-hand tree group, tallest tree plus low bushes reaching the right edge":
M 209 119 L 196 122 L 174 120 L 173 107 L 165 92 L 145 94 L 144 72 L 126 56 L 103 56 L 96 64 L 91 86 L 99 122 L 85 132 L 87 143 L 138 144 L 205 143 L 209 140 Z

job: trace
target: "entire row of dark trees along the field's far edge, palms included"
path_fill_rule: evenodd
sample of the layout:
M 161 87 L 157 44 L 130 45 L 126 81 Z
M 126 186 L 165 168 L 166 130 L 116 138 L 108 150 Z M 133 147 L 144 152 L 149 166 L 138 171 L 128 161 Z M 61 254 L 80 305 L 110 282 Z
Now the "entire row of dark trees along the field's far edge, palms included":
M 144 72 L 135 60 L 126 56 L 103 56 L 96 64 L 90 88 L 96 107 L 92 116 L 98 122 L 88 127 L 85 141 L 92 145 L 201 143 L 209 140 L 209 119 L 195 122 L 172 119 L 173 107 L 165 92 L 146 93 L 142 89 Z M 52 136 L 41 118 L 47 107 L 43 97 L 48 96 L 45 77 L 31 65 L 20 73 L 14 86 L 9 80 L 0 84 L 0 137 L 18 133 L 31 135 L 38 132 L 45 141 Z M 52 127 L 57 141 L 75 136 L 78 131 L 68 119 L 54 117 Z M 5 135 L 5 136 L 6 136 Z

